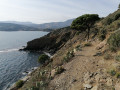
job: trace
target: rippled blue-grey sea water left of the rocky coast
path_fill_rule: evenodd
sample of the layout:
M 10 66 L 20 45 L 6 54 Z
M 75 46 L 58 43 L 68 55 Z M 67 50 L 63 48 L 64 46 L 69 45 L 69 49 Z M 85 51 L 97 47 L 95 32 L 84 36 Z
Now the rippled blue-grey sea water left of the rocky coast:
M 24 77 L 23 72 L 38 67 L 38 52 L 18 51 L 27 42 L 42 37 L 48 32 L 42 31 L 0 31 L 0 90 Z

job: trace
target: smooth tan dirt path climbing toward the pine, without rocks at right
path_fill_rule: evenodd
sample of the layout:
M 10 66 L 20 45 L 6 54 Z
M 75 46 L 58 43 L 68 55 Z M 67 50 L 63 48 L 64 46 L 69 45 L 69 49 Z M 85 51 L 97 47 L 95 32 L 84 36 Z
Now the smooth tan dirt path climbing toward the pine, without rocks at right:
M 93 56 L 98 52 L 95 49 L 96 45 L 84 47 L 82 51 L 76 52 L 72 61 L 64 65 L 66 71 L 51 81 L 50 90 L 81 90 L 85 73 L 104 68 L 103 58 Z

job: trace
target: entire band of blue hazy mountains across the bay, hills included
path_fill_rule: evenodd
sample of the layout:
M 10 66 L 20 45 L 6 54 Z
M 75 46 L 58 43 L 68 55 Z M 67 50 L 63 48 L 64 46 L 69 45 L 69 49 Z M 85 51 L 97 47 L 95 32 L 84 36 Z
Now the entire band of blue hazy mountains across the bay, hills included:
M 51 22 L 44 24 L 34 24 L 32 22 L 18 22 L 18 21 L 0 21 L 0 31 L 52 31 L 68 27 L 74 19 L 65 22 Z

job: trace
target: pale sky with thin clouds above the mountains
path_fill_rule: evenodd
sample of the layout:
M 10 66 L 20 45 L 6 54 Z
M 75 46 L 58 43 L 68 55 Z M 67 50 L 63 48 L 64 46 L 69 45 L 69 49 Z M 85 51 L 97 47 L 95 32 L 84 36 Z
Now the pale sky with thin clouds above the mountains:
M 83 14 L 105 17 L 120 0 L 0 0 L 0 21 L 60 22 Z

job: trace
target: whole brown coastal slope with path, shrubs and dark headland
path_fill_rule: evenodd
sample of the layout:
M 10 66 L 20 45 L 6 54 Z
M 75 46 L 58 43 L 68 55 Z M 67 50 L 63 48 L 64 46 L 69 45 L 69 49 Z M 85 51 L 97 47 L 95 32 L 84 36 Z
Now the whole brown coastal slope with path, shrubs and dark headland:
M 86 32 L 62 28 L 27 43 L 53 54 L 20 90 L 120 90 L 120 9 Z

